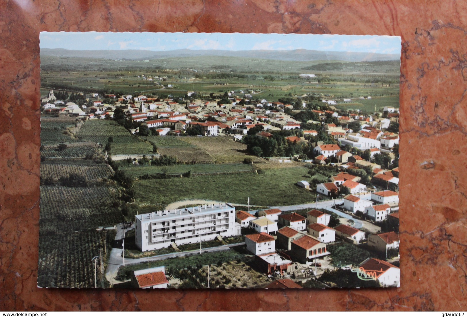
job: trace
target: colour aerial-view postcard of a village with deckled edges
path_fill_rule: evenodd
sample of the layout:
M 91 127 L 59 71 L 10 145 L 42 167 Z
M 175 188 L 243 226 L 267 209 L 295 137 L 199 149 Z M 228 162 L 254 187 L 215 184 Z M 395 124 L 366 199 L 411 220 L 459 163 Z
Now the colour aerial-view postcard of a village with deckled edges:
M 400 37 L 40 49 L 38 287 L 400 287 Z

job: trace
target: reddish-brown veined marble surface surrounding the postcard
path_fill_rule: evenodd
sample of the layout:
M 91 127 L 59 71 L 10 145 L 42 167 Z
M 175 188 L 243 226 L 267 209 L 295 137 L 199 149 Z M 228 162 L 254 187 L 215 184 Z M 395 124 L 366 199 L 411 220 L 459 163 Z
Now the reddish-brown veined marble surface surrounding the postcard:
M 40 31 L 401 36 L 402 287 L 37 288 Z M 454 0 L 0 0 L 0 310 L 466 310 L 466 35 Z

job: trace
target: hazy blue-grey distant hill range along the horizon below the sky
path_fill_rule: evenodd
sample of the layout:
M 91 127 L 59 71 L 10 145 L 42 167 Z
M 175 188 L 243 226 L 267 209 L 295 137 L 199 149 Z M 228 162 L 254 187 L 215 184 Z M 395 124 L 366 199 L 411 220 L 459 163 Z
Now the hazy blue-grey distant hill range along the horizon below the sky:
M 196 57 L 196 56 L 229 56 L 243 58 L 273 59 L 284 61 L 339 60 L 346 62 L 400 60 L 398 54 L 377 54 L 359 52 L 336 52 L 319 50 L 65 50 L 41 49 L 42 56 L 69 58 L 107 58 L 144 60 L 159 58 Z

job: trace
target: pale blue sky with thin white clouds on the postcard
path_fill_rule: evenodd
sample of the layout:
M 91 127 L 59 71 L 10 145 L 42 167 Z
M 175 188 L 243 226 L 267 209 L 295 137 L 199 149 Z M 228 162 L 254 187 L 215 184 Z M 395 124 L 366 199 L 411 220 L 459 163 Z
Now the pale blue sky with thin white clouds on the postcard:
M 257 33 L 41 32 L 41 48 L 67 50 L 330 50 L 400 54 L 399 36 Z

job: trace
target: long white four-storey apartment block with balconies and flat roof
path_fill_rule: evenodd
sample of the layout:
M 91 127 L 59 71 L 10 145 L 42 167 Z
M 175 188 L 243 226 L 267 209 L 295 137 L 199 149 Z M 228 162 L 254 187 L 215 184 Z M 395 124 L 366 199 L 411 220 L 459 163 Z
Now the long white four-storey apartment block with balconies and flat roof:
M 136 245 L 141 251 L 166 248 L 172 243 L 184 245 L 213 240 L 216 236 L 240 235 L 235 208 L 228 203 L 159 210 L 135 215 Z

